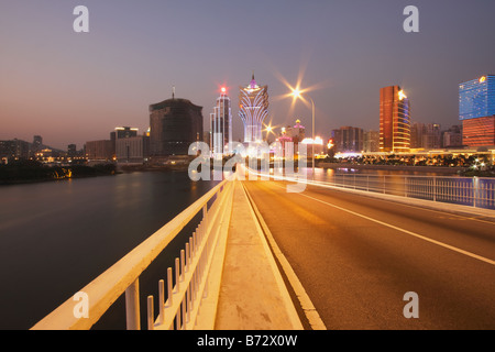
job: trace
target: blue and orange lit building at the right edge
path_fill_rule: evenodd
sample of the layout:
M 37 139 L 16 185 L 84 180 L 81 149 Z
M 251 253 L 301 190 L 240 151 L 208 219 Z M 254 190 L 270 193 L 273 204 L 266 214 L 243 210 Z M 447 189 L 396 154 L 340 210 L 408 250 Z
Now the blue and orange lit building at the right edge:
M 494 75 L 459 85 L 459 119 L 462 121 L 464 145 L 495 145 Z

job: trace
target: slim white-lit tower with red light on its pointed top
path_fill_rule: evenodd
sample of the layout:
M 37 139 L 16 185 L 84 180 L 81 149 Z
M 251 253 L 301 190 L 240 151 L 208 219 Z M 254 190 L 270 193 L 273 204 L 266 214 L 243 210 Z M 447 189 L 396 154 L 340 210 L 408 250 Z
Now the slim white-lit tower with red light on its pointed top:
M 230 154 L 232 142 L 232 110 L 227 89 L 221 88 L 213 112 L 210 113 L 210 147 L 213 156 Z M 227 150 L 226 150 L 227 147 Z M 226 153 L 227 152 L 227 153 Z

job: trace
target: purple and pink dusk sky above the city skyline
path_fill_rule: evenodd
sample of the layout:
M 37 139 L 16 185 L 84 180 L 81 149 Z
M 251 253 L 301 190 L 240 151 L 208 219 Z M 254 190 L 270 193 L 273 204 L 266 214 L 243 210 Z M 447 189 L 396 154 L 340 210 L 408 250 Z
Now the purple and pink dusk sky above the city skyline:
M 406 33 L 406 6 L 419 33 Z M 76 33 L 76 6 L 89 33 Z M 238 89 L 254 70 L 268 85 L 274 125 L 311 110 L 284 80 L 300 79 L 316 131 L 378 130 L 380 88 L 399 85 L 411 120 L 459 124 L 458 85 L 495 74 L 494 0 L 0 0 L 0 140 L 33 135 L 66 150 L 150 124 L 148 106 L 172 97 L 201 106 L 205 130 L 221 86 L 243 136 Z

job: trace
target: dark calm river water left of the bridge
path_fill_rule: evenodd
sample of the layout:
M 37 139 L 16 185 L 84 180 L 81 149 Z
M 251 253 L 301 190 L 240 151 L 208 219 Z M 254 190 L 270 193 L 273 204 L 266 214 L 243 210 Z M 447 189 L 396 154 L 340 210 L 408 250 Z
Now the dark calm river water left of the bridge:
M 215 184 L 150 172 L 0 187 L 0 329 L 30 329 Z M 162 271 L 184 248 L 177 241 Z M 125 327 L 116 307 L 97 328 Z

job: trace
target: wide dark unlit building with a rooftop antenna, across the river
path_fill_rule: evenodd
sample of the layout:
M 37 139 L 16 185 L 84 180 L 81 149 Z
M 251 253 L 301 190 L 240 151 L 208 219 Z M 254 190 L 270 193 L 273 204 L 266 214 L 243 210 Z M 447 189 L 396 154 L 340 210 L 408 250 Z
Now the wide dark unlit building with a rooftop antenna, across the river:
M 188 155 L 202 140 L 202 107 L 175 98 L 150 106 L 150 155 Z

